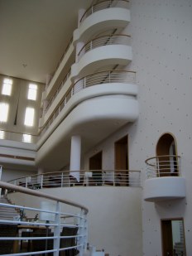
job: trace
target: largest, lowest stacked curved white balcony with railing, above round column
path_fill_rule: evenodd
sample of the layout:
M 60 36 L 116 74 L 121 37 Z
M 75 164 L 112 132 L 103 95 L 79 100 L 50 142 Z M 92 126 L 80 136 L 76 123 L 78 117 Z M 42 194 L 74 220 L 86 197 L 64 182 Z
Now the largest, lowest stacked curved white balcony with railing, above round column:
M 40 163 L 45 157 L 44 164 L 47 165 L 49 161 L 46 156 L 59 148 L 60 143 L 68 143 L 73 133 L 84 136 L 86 150 L 124 124 L 135 121 L 138 102 L 134 76 L 134 72 L 110 70 L 76 82 L 41 131 L 36 162 Z M 63 165 L 69 160 L 69 153 L 65 151 L 65 156 L 60 153 L 60 161 L 58 154 L 57 161 L 50 162 L 49 167 L 52 164 L 60 167 L 60 162 Z

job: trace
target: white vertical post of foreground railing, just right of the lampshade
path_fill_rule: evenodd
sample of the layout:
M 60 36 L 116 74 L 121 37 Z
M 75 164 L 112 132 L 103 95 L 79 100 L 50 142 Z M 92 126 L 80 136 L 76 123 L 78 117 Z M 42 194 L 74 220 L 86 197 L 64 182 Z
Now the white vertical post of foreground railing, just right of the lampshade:
M 60 249 L 60 202 L 57 201 L 56 203 L 56 211 L 55 211 L 55 224 L 54 227 L 54 236 L 56 237 L 54 239 L 54 247 L 53 249 L 56 249 L 54 252 L 54 256 L 59 256 L 59 249 Z

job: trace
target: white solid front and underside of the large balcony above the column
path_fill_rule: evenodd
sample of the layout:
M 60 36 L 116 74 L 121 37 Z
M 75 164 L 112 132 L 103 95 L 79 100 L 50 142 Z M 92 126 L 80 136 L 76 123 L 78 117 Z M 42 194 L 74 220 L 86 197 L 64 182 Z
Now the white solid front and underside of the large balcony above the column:
M 103 85 L 98 86 L 102 86 L 104 89 Z M 108 87 L 109 89 L 113 92 L 112 86 Z M 59 120 L 59 118 L 55 120 L 55 123 L 58 123 L 57 128 L 52 126 L 51 129 L 50 127 L 49 131 L 41 138 L 36 157 L 36 163 L 39 166 L 50 170 L 59 170 L 65 167 L 69 163 L 70 138 L 74 134 L 79 134 L 83 138 L 82 152 L 85 152 L 126 123 L 137 119 L 138 104 L 133 93 L 130 94 L 129 91 L 128 95 L 123 95 L 120 92 L 118 94 L 105 92 L 104 95 L 101 95 L 100 89 L 96 90 L 100 94 L 97 94 L 96 91 L 93 94 L 93 88 L 87 89 L 87 96 L 84 96 L 84 100 L 83 98 L 79 100 L 84 93 L 76 94 L 77 98 L 73 101 L 71 99 L 70 102 L 71 106 L 73 105 L 73 108 L 68 109 L 70 114 L 63 120 Z M 105 88 L 105 90 L 107 89 Z M 88 96 L 89 92 L 92 94 L 91 97 Z M 62 111 L 65 114 L 67 110 L 63 109 Z

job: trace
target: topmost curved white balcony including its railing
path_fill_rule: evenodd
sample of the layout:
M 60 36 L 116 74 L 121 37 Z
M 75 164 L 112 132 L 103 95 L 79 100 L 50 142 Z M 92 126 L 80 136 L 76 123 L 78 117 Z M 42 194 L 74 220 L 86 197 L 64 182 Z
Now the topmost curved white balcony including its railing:
M 98 31 L 111 27 L 126 27 L 130 22 L 130 12 L 125 0 L 107 0 L 94 4 L 84 12 L 80 26 L 74 31 L 74 42 L 87 41 Z

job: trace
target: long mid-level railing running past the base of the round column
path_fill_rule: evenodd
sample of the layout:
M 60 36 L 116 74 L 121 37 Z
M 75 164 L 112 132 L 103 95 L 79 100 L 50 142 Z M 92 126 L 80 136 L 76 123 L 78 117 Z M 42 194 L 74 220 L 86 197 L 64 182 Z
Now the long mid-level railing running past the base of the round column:
M 23 176 L 8 181 L 11 184 L 33 190 L 70 186 L 141 186 L 141 171 L 94 170 L 79 171 L 79 182 L 73 177 L 77 171 L 54 171 L 40 175 Z

